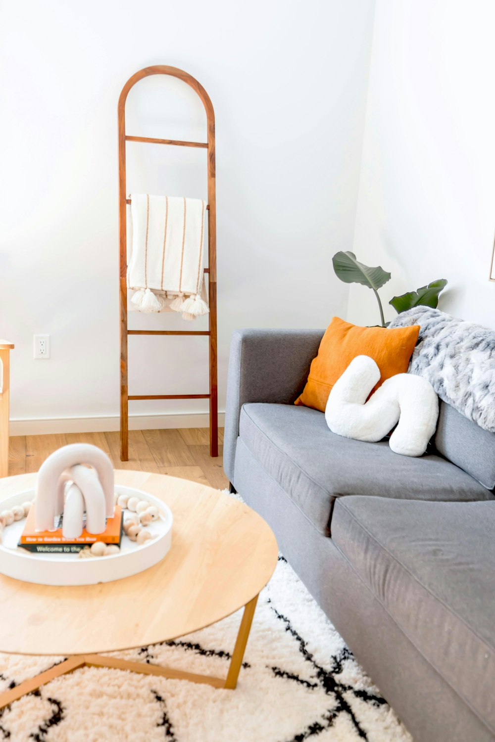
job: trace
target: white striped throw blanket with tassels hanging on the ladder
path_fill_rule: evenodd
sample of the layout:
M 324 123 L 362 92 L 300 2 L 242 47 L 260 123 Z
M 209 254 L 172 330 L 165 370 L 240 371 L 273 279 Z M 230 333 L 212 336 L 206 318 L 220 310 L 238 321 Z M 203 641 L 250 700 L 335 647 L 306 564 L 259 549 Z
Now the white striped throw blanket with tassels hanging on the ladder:
M 196 198 L 131 194 L 127 284 L 140 312 L 171 309 L 192 320 L 209 312 L 203 241 L 206 203 Z M 129 243 L 129 240 L 128 240 Z

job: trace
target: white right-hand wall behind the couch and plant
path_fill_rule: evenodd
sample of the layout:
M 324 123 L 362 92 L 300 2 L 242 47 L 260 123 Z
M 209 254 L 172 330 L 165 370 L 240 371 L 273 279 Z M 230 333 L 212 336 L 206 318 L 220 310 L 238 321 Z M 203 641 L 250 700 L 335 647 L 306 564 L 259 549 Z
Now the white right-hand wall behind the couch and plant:
M 393 295 L 447 278 L 439 308 L 495 326 L 495 4 L 377 0 L 354 251 Z M 350 290 L 350 321 L 378 322 Z

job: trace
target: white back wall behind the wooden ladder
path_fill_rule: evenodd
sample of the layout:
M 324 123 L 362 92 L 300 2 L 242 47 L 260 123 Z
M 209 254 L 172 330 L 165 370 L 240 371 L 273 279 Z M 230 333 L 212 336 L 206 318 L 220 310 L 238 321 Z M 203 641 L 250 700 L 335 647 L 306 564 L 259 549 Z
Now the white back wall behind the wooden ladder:
M 16 343 L 14 421 L 62 418 L 49 429 L 79 430 L 72 418 L 96 418 L 90 429 L 117 420 L 117 99 L 147 65 L 188 70 L 217 116 L 220 409 L 233 329 L 325 326 L 345 312 L 331 257 L 353 245 L 373 9 L 373 0 L 4 5 L 0 336 Z M 203 125 L 199 99 L 177 81 L 148 79 L 129 96 L 130 134 L 203 137 Z M 129 145 L 129 189 L 206 195 L 204 157 Z M 33 360 L 34 333 L 51 335 L 50 361 Z M 204 338 L 129 345 L 131 393 L 207 390 Z M 204 410 L 131 403 L 140 415 Z M 23 430 L 33 425 L 13 426 Z

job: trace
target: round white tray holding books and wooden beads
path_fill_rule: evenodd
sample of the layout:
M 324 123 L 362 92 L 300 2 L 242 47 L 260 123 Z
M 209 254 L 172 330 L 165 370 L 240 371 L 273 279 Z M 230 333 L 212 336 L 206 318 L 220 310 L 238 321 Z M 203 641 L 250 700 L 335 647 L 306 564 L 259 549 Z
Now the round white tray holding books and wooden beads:
M 96 585 L 131 577 L 160 562 L 171 547 L 173 516 L 163 500 L 134 487 L 115 485 L 120 494 L 139 497 L 156 505 L 160 517 L 146 526 L 155 537 L 143 545 L 131 541 L 122 533 L 120 553 L 110 557 L 79 559 L 77 554 L 33 554 L 21 548 L 19 543 L 25 519 L 4 528 L 0 545 L 0 572 L 23 582 L 38 585 Z M 34 490 L 23 490 L 1 501 L 0 510 L 10 510 L 26 500 L 34 499 Z

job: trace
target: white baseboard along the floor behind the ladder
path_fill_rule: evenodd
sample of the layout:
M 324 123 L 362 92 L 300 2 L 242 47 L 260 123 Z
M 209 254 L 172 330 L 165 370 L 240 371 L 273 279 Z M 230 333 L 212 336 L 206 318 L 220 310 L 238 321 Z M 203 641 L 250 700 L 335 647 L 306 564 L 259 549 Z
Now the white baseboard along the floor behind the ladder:
M 218 413 L 223 427 L 225 413 Z M 169 427 L 208 427 L 208 413 L 129 415 L 129 430 L 159 430 Z M 10 420 L 10 436 L 42 436 L 49 433 L 100 433 L 119 430 L 119 416 L 17 418 Z

